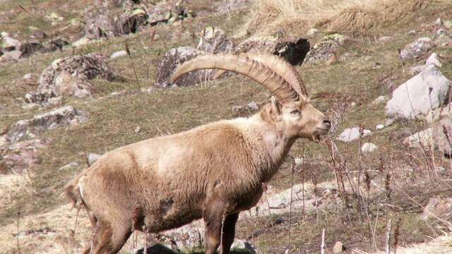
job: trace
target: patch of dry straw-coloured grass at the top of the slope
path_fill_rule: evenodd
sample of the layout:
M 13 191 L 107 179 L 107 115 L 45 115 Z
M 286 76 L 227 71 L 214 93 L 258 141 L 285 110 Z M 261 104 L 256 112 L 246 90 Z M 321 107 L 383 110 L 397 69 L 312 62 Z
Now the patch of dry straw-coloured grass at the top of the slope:
M 364 32 L 422 10 L 427 0 L 254 0 L 247 30 L 268 35 L 281 28 L 312 27 Z

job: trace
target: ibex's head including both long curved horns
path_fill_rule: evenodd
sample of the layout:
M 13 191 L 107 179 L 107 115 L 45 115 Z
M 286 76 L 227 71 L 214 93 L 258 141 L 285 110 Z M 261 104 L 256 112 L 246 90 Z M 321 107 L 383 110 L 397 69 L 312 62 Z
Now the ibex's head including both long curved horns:
M 307 98 L 302 78 L 290 63 L 269 54 L 207 54 L 186 61 L 171 78 L 201 69 L 220 69 L 246 75 L 266 87 L 272 102 L 261 110 L 263 119 L 279 128 L 288 138 L 309 138 L 319 142 L 331 122 Z

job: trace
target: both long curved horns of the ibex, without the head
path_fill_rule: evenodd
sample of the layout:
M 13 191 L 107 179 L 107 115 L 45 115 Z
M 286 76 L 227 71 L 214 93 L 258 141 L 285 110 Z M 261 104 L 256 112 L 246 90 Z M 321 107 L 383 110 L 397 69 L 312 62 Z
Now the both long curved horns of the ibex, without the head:
M 302 78 L 290 63 L 270 54 L 206 54 L 186 61 L 174 71 L 174 83 L 184 73 L 202 69 L 233 71 L 260 83 L 281 103 L 304 101 L 307 90 Z

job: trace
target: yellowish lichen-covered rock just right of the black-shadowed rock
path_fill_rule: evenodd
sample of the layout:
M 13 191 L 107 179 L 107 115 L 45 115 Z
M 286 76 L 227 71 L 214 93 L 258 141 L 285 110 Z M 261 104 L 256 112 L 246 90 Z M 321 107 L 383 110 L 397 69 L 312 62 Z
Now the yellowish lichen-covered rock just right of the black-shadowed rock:
M 342 46 L 347 37 L 345 35 L 333 34 L 324 36 L 320 42 L 314 44 L 314 47 L 309 51 L 305 61 L 323 61 L 331 59 L 338 53 L 340 46 Z

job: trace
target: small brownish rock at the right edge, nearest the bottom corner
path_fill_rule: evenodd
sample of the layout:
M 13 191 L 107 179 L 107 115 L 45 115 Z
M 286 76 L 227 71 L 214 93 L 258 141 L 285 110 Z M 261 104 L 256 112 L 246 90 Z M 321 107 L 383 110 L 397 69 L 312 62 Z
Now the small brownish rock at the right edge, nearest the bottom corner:
M 452 216 L 452 198 L 430 198 L 424 207 L 421 219 L 450 219 Z

